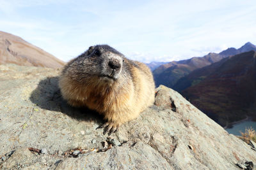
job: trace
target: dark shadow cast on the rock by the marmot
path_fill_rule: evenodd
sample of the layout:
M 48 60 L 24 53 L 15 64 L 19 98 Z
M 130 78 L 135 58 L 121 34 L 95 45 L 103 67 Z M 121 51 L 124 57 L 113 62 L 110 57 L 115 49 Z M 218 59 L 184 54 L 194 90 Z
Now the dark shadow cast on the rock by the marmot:
M 103 117 L 96 111 L 88 108 L 74 108 L 67 104 L 61 97 L 58 80 L 58 76 L 41 80 L 31 93 L 30 101 L 45 110 L 60 111 L 77 120 L 95 121 L 98 124 L 102 124 Z

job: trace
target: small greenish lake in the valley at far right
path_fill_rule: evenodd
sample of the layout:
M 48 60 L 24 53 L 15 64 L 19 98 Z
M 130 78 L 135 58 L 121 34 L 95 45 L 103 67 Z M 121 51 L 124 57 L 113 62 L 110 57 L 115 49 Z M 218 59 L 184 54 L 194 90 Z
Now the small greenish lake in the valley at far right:
M 244 122 L 240 122 L 238 124 L 234 124 L 232 128 L 225 129 L 228 133 L 234 134 L 237 136 L 241 136 L 241 132 L 244 132 L 245 129 L 252 127 L 256 131 L 256 122 L 252 122 L 251 120 L 247 120 Z

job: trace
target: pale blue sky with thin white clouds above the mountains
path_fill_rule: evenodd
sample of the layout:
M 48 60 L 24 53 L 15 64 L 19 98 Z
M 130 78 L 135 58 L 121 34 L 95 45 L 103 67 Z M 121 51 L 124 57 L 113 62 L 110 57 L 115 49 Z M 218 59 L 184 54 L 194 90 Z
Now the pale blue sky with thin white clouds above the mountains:
M 256 45 L 256 3 L 0 0 L 0 31 L 64 61 L 108 44 L 129 59 L 168 62 Z

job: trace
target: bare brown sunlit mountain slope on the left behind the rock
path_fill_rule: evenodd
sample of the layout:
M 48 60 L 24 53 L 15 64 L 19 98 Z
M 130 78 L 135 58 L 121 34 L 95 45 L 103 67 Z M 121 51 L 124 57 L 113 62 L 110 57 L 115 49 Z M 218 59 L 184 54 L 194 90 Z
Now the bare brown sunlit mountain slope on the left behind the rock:
M 5 63 L 52 68 L 62 67 L 65 64 L 65 62 L 31 45 L 24 39 L 0 31 L 0 64 Z

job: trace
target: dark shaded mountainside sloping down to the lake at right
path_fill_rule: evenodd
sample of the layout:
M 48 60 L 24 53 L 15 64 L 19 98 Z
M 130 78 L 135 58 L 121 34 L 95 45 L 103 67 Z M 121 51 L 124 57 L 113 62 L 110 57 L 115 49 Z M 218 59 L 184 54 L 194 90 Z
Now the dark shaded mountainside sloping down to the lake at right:
M 256 52 L 239 53 L 196 69 L 174 87 L 222 126 L 246 116 L 256 119 Z

